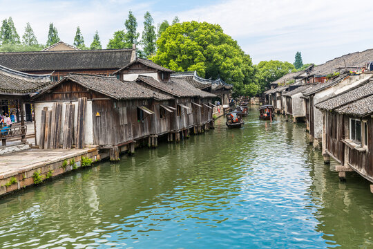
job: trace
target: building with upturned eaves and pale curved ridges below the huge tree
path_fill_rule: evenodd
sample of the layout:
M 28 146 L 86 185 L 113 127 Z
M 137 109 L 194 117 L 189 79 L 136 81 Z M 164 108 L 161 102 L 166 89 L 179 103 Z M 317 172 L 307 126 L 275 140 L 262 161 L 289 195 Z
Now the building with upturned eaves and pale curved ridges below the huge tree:
M 222 104 L 229 104 L 229 94 L 231 93 L 232 85 L 224 82 L 220 77 L 216 80 L 204 79 L 198 76 L 197 72 L 182 72 L 173 73 L 171 75 L 173 78 L 184 78 L 192 86 L 209 93 L 218 95 L 222 100 Z

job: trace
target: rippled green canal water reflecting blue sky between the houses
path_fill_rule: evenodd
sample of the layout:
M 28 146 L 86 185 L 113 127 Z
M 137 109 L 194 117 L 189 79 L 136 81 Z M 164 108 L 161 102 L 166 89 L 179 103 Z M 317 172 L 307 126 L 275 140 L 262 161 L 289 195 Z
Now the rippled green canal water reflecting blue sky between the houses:
M 304 124 L 258 120 L 0 200 L 0 248 L 373 248 L 369 183 L 324 165 Z

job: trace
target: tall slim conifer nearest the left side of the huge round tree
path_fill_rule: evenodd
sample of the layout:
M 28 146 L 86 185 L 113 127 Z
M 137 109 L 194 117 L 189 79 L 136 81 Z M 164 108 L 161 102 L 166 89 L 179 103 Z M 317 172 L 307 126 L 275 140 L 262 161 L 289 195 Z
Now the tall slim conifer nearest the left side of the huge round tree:
M 155 54 L 155 41 L 157 36 L 155 35 L 155 26 L 153 17 L 151 17 L 149 11 L 144 15 L 144 32 L 142 33 L 141 44 L 144 46 L 142 55 L 144 57 L 149 57 Z

